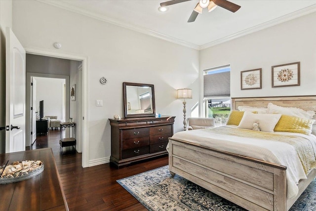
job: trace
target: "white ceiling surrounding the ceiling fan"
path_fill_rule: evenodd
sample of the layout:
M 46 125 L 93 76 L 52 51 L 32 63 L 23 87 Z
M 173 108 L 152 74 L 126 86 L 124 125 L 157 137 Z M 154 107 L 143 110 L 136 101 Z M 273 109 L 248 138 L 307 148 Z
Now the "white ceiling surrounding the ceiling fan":
M 259 31 L 316 11 L 316 0 L 230 0 L 241 8 L 233 13 L 222 7 L 203 10 L 195 22 L 187 23 L 198 0 L 168 6 L 167 0 L 39 0 L 104 20 L 141 33 L 195 49 Z

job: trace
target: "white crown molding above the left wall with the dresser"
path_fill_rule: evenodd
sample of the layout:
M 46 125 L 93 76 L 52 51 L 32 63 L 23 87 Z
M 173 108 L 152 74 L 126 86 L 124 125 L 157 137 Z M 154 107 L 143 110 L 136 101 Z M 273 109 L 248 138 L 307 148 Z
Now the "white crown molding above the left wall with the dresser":
M 185 41 L 176 39 L 174 37 L 167 36 L 167 35 L 155 32 L 153 30 L 149 30 L 149 29 L 146 29 L 146 28 L 143 28 L 143 27 L 139 27 L 139 26 L 136 26 L 136 25 L 133 25 L 133 24 L 130 24 L 130 23 L 125 23 L 125 22 L 122 22 L 122 21 L 118 21 L 118 20 L 115 20 L 113 18 L 109 18 L 109 17 L 104 16 L 104 15 L 94 14 L 92 12 L 85 11 L 85 10 L 79 8 L 79 7 L 73 6 L 73 5 L 68 4 L 66 2 L 63 2 L 63 1 L 57 1 L 57 0 L 37 0 L 37 1 L 42 2 L 42 3 L 46 3 L 46 4 L 50 4 L 52 6 L 56 6 L 56 7 L 68 10 L 68 11 L 76 12 L 76 13 L 79 13 L 81 15 L 85 15 L 85 16 L 88 16 L 90 18 L 94 18 L 94 19 L 101 20 L 101 21 L 104 21 L 104 22 L 107 22 L 107 23 L 110 23 L 110 24 L 114 24 L 114 25 L 117 25 L 117 26 L 120 26 L 120 27 L 123 27 L 123 28 L 126 28 L 126 29 L 130 29 L 130 30 L 133 30 L 133 31 L 136 31 L 136 32 L 140 32 L 142 34 L 149 35 L 149 36 L 152 36 L 152 37 L 164 40 L 164 41 L 173 42 L 173 43 L 180 44 L 180 45 L 183 45 L 183 46 L 186 46 L 186 47 L 190 47 L 190 48 L 193 48 L 193 49 L 196 49 L 196 50 L 199 50 L 199 48 L 200 48 L 200 46 L 197 45 L 197 44 L 193 44 L 193 43 L 190 43 L 190 42 L 185 42 Z

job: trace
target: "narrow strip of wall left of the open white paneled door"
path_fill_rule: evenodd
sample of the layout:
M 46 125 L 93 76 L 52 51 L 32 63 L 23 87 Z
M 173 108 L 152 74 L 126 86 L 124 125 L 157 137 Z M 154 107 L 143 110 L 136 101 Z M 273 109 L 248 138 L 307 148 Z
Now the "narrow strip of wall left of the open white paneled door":
M 0 127 L 5 126 L 5 28 L 12 28 L 12 0 L 0 0 Z M 5 130 L 0 131 L 0 153 L 5 152 Z

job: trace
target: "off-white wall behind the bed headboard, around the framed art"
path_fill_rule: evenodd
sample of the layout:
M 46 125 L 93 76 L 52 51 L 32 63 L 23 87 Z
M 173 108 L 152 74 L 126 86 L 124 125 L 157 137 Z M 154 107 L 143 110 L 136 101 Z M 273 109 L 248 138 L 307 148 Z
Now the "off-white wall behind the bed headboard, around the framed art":
M 200 51 L 202 70 L 231 64 L 231 96 L 315 95 L 316 12 Z M 301 85 L 272 88 L 271 66 L 301 62 Z M 262 68 L 262 89 L 240 90 L 240 71 Z M 201 81 L 201 90 L 203 83 Z

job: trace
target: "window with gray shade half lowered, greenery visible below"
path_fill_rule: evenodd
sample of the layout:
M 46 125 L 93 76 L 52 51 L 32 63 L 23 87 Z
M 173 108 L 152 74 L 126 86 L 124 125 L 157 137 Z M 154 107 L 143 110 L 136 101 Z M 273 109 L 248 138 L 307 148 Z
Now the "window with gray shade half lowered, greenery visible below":
M 214 118 L 215 126 L 225 125 L 231 111 L 231 67 L 204 70 L 205 117 Z

